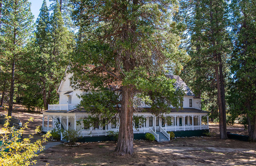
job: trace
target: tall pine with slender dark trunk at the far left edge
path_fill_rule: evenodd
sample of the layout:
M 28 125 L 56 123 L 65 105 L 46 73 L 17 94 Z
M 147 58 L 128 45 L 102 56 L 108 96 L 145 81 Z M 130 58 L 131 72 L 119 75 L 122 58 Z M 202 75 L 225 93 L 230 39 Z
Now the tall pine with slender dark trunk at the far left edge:
M 24 66 L 20 62 L 26 58 L 26 44 L 33 32 L 33 15 L 28 0 L 2 1 L 1 19 L 1 66 L 8 72 L 10 99 L 8 116 L 12 115 L 15 81 Z

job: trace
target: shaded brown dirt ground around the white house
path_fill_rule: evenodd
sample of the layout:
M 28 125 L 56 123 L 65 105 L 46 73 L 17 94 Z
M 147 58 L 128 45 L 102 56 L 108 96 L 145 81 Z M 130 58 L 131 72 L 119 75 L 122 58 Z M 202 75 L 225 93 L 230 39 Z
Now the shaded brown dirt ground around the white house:
M 7 112 L 0 109 L 1 114 Z M 21 110 L 13 116 L 25 123 L 34 117 L 29 129 L 24 133 L 27 138 L 36 126 L 42 125 L 41 113 L 27 113 Z M 83 143 L 78 147 L 58 145 L 46 149 L 35 158 L 36 166 L 182 166 L 182 165 L 256 165 L 256 143 L 238 140 L 220 140 L 218 124 L 209 124 L 213 137 L 179 138 L 168 143 L 134 141 L 132 156 L 115 156 L 115 142 Z M 242 125 L 227 126 L 227 131 L 248 135 Z M 34 140 L 40 139 L 35 135 Z

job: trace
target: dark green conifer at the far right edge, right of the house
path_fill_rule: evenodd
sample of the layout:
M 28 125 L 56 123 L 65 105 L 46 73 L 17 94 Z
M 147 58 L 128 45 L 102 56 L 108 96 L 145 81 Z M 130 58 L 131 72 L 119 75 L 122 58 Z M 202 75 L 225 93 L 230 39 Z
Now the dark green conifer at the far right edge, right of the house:
M 233 0 L 232 82 L 228 97 L 234 117 L 246 116 L 249 140 L 256 142 L 256 4 L 252 0 Z

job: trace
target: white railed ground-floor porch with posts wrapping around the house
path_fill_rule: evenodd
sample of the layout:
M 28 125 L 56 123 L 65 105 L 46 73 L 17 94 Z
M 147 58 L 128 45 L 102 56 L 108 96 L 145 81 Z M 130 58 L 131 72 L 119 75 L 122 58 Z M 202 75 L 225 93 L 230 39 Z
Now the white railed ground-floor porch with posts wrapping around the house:
M 58 113 L 60 114 L 60 113 Z M 88 117 L 82 114 L 61 113 L 47 113 L 43 115 L 43 131 L 53 130 L 54 128 L 75 129 L 78 130 L 81 137 L 92 137 L 108 135 L 109 131 L 119 131 L 119 120 L 117 118 L 116 124 L 107 124 L 105 126 L 99 126 L 97 122 L 91 126 L 85 126 L 83 123 L 77 124 L 77 121 L 81 121 Z M 65 115 L 66 114 L 66 115 Z M 187 130 L 204 130 L 209 129 L 209 121 L 207 114 L 165 114 L 161 116 L 154 116 L 149 113 L 133 114 L 134 116 L 144 117 L 145 120 L 141 124 L 135 124 L 133 122 L 133 133 L 152 133 L 156 140 L 158 140 L 158 134 L 156 132 L 162 132 L 169 140 L 170 136 L 168 131 L 187 131 Z M 207 117 L 207 123 L 202 122 L 202 117 Z M 165 122 L 164 118 L 170 117 L 171 121 Z M 76 122 L 76 123 L 75 123 Z M 169 123 L 169 124 L 168 124 Z

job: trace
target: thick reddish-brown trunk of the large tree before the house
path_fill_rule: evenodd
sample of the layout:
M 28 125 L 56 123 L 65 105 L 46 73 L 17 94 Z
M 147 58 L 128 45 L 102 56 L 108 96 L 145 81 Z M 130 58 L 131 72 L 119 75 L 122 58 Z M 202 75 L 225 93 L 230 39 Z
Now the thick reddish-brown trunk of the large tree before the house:
M 120 112 L 120 126 L 115 155 L 133 153 L 133 128 L 132 128 L 132 87 L 122 87 L 122 108 Z

